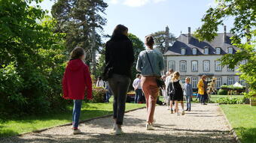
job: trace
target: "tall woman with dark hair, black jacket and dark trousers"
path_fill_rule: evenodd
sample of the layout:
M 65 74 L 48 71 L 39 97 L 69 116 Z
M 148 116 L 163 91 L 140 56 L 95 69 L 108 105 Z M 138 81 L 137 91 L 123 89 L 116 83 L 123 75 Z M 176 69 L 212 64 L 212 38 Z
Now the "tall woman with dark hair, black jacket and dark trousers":
M 114 94 L 113 118 L 115 135 L 123 133 L 121 125 L 123 124 L 133 62 L 133 43 L 128 38 L 128 28 L 124 25 L 117 25 L 114 28 L 111 40 L 108 40 L 105 47 L 105 63 L 108 64 L 108 68 L 112 69 L 111 75 L 108 75 L 108 83 Z

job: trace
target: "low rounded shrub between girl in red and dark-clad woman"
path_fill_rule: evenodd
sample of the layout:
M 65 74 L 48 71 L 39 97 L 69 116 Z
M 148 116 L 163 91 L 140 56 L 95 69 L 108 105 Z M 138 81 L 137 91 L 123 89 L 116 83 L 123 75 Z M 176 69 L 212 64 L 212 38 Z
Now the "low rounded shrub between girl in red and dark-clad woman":
M 104 103 L 105 88 L 93 87 L 93 100 L 87 100 L 87 93 L 85 92 L 84 100 L 87 103 Z

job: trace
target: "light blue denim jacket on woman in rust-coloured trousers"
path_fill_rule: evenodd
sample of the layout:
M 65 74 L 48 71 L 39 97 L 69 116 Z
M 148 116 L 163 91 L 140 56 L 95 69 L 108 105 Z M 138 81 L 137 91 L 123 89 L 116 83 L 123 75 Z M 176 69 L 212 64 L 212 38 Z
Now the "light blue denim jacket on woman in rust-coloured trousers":
M 148 57 L 151 61 L 154 73 L 151 70 L 146 52 L 148 52 Z M 136 70 L 141 72 L 142 76 L 161 76 L 161 71 L 163 69 L 163 54 L 157 49 L 146 49 L 139 53 Z

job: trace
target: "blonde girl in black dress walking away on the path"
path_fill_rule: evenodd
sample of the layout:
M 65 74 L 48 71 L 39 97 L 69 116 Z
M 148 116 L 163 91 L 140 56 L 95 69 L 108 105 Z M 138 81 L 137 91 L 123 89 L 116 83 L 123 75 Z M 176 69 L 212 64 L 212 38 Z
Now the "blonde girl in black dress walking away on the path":
M 169 88 L 169 96 L 171 97 L 171 101 L 175 102 L 175 112 L 177 115 L 179 115 L 178 112 L 178 103 L 181 103 L 181 115 L 184 115 L 184 103 L 183 103 L 183 90 L 184 85 L 179 80 L 180 74 L 178 72 L 174 72 L 172 75 L 172 80 L 169 82 L 168 88 Z M 172 104 L 172 103 L 171 103 Z M 171 113 L 173 113 L 173 110 L 171 109 Z

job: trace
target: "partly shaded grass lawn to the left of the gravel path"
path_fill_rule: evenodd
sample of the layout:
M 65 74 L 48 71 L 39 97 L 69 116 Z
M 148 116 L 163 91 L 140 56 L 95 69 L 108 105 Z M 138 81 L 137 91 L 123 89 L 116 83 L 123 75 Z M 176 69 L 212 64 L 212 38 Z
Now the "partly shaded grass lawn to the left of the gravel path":
M 126 111 L 137 109 L 145 104 L 126 103 Z M 81 120 L 109 115 L 113 111 L 112 103 L 83 103 L 81 110 Z M 47 127 L 54 127 L 72 122 L 72 106 L 68 111 L 41 116 L 26 116 L 24 118 L 1 120 L 0 138 L 15 136 L 21 133 L 28 133 L 34 130 L 41 130 Z

